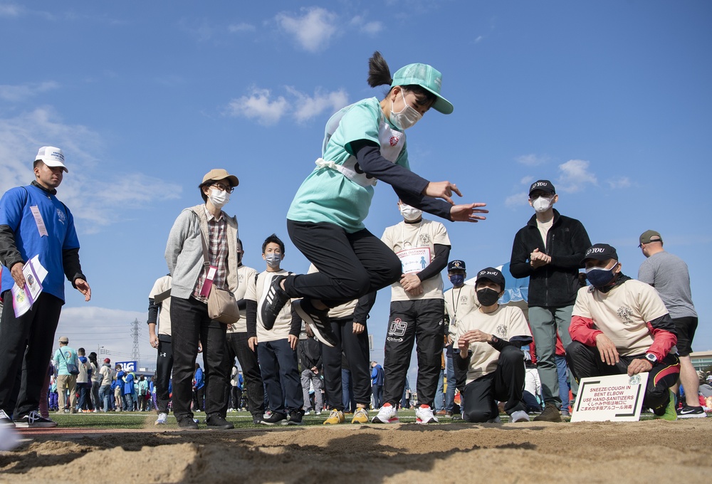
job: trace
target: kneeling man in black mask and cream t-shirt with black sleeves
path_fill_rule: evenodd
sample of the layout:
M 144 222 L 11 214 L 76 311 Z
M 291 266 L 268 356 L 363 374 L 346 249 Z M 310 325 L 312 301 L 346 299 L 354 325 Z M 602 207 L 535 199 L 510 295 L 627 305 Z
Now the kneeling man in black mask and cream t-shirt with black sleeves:
M 528 421 L 524 392 L 524 352 L 532 335 L 522 310 L 501 306 L 504 276 L 488 267 L 477 274 L 478 309 L 464 315 L 456 330 L 459 353 L 454 357 L 462 402 L 468 422 L 498 422 L 496 401 L 506 401 L 504 411 L 512 422 Z

